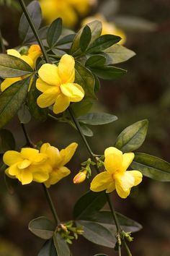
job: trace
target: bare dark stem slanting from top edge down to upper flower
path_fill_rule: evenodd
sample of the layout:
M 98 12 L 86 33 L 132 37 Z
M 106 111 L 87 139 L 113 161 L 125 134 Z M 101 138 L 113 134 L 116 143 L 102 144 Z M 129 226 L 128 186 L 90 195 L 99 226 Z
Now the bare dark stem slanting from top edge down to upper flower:
M 24 4 L 24 1 L 23 1 L 23 0 L 19 0 L 19 4 L 21 5 L 22 10 L 23 10 L 25 16 L 27 17 L 27 22 L 30 24 L 30 27 L 32 28 L 32 32 L 34 33 L 35 38 L 37 39 L 37 42 L 39 43 L 39 46 L 40 46 L 40 48 L 41 48 L 41 51 L 42 51 L 42 54 L 43 54 L 43 56 L 44 56 L 45 61 L 46 61 L 47 63 L 50 63 L 50 59 L 49 59 L 49 57 L 48 57 L 48 54 L 47 54 L 46 51 L 45 51 L 45 47 L 43 46 L 42 40 L 40 39 L 40 37 L 39 37 L 39 35 L 38 35 L 38 33 L 37 33 L 37 29 L 36 29 L 34 23 L 33 23 L 32 20 L 31 20 L 30 13 L 27 11 L 27 7 L 26 7 L 26 5 Z

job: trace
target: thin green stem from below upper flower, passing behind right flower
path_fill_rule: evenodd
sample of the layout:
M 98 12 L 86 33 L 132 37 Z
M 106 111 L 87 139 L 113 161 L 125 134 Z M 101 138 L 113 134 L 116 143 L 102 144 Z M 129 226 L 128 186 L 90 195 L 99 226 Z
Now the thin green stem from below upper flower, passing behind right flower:
M 95 158 L 95 154 L 92 152 L 90 146 L 89 146 L 89 143 L 87 142 L 86 140 L 86 137 L 84 136 L 84 134 L 82 133 L 81 131 L 81 126 L 79 124 L 79 121 L 76 119 L 74 113 L 73 113 L 73 110 L 71 109 L 71 107 L 68 108 L 68 111 L 71 115 L 71 118 L 73 119 L 73 122 L 74 124 L 76 125 L 76 128 L 78 129 L 79 131 L 79 134 L 81 135 L 81 138 L 82 140 L 84 141 L 84 144 L 86 145 L 86 149 L 90 155 L 90 157 L 93 159 L 93 161 L 96 161 L 96 158 Z M 97 174 L 99 174 L 99 168 L 97 168 L 97 166 L 94 166 L 96 171 L 97 171 Z M 107 202 L 109 204 L 109 208 L 111 210 L 111 213 L 112 213 L 112 217 L 115 221 L 115 225 L 116 225 L 116 229 L 117 229 L 117 244 L 118 244 L 118 252 L 119 252 L 119 256 L 121 256 L 121 237 L 120 237 L 120 224 L 119 224 L 119 221 L 117 219 L 117 215 L 115 213 L 115 209 L 113 208 L 113 205 L 112 205 L 112 202 L 109 198 L 109 195 L 106 193 L 106 197 L 107 197 Z

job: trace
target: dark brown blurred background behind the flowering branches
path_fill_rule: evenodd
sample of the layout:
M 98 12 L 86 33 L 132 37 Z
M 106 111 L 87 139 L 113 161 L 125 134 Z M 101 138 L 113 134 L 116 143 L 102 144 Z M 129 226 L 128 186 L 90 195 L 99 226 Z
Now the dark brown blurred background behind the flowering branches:
M 58 2 L 59 0 L 40 1 L 44 24 L 61 15 L 66 26 L 77 30 L 85 17 L 97 15 L 106 29 L 121 34 L 123 45 L 137 54 L 129 61 L 117 65 L 128 69 L 124 77 L 114 82 L 102 81 L 99 103 L 94 104 L 94 110 L 115 114 L 118 120 L 105 126 L 92 127 L 94 137 L 88 138 L 91 148 L 95 153 L 103 153 L 105 148 L 114 145 L 122 129 L 135 121 L 148 119 L 148 135 L 139 151 L 170 161 L 170 1 Z M 56 4 L 60 9 L 55 9 Z M 19 45 L 17 27 L 21 13 L 17 1 L 0 1 L 1 33 L 9 43 L 8 48 Z M 14 131 L 17 148 L 24 145 L 18 120 L 14 119 L 7 128 Z M 80 185 L 72 183 L 73 176 L 81 168 L 80 163 L 88 157 L 86 148 L 79 135 L 68 124 L 50 120 L 40 124 L 32 120 L 27 124 L 27 129 L 33 141 L 50 142 L 59 149 L 70 142 L 79 142 L 79 149 L 68 165 L 72 170 L 71 175 L 50 188 L 58 216 L 63 221 L 68 221 L 72 218 L 74 203 L 89 187 L 88 181 Z M 27 224 L 38 216 L 50 217 L 42 187 L 40 184 L 24 187 L 19 185 L 14 195 L 9 195 L 4 174 L 0 175 L 0 256 L 37 255 L 43 241 L 27 230 Z M 168 183 L 144 178 L 139 186 L 138 197 L 122 200 L 113 193 L 112 199 L 117 211 L 143 225 L 143 230 L 133 234 L 135 239 L 130 244 L 133 255 L 170 255 Z M 92 256 L 99 252 L 109 256 L 116 255 L 112 249 L 91 244 L 83 237 L 79 237 L 71 249 L 74 256 Z

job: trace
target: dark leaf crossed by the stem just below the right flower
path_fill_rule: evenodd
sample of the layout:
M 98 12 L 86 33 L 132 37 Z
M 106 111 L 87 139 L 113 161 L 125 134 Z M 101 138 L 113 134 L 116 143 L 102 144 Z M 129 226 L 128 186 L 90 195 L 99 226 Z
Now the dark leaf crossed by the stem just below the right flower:
M 121 213 L 116 213 L 116 215 L 122 230 L 125 232 L 136 232 L 142 229 L 140 223 L 133 221 L 131 218 L 123 216 Z M 93 214 L 89 214 L 89 216 L 85 216 L 84 220 L 100 223 L 105 228 L 109 229 L 109 231 L 113 233 L 116 232 L 115 221 L 109 210 L 96 211 Z

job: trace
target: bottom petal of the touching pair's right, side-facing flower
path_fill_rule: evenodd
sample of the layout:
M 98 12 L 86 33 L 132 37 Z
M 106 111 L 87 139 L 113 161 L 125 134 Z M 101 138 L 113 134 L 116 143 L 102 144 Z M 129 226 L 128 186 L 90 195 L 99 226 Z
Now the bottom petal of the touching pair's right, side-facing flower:
M 48 181 L 45 182 L 45 186 L 50 187 L 50 185 L 56 184 L 64 177 L 68 176 L 70 173 L 71 171 L 66 166 L 62 166 L 56 170 L 53 170 L 50 173 L 50 178 L 48 179 Z

